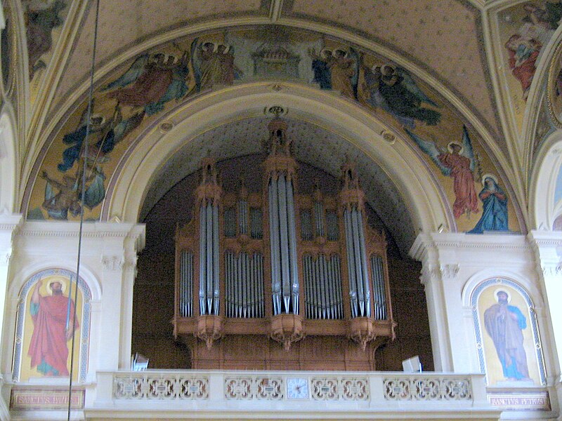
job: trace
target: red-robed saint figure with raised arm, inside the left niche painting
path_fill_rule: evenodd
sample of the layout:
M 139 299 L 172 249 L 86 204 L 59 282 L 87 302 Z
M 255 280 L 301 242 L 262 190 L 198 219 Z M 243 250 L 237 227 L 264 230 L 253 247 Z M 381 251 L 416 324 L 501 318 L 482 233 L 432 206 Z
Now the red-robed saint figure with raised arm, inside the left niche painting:
M 39 373 L 46 376 L 67 376 L 67 341 L 72 338 L 72 323 L 74 330 L 79 328 L 78 321 L 74 320 L 74 301 L 70 300 L 69 313 L 69 298 L 63 294 L 65 279 L 53 279 L 49 282 L 51 295 L 39 293 L 42 284 L 43 279 L 37 281 L 31 297 L 33 334 L 27 354 L 31 357 L 32 368 L 37 367 Z

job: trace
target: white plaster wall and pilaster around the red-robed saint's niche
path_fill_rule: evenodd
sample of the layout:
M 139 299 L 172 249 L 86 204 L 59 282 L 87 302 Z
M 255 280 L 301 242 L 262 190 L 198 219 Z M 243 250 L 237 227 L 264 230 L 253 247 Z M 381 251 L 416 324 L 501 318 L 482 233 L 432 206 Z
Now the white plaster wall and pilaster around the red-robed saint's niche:
M 11 380 L 13 338 L 20 290 L 33 274 L 51 268 L 76 272 L 77 223 L 25 222 L 14 239 L 8 281 L 6 323 L 0 369 Z M 86 223 L 79 275 L 92 294 L 87 382 L 98 370 L 129 368 L 136 253 L 144 246 L 144 226 Z

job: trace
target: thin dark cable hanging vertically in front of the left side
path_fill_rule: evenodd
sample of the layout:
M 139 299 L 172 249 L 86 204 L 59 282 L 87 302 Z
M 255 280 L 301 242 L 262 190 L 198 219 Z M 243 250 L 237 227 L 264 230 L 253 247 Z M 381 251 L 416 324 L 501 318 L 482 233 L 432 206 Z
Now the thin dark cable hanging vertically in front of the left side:
M 96 0 L 96 22 L 93 27 L 93 49 L 92 49 L 92 63 L 90 69 L 90 88 L 88 92 L 88 112 L 86 113 L 86 135 L 82 142 L 82 156 L 84 156 L 84 163 L 82 166 L 82 185 L 80 197 L 80 225 L 78 232 L 78 254 L 76 265 L 76 289 L 74 290 L 74 312 L 72 314 L 72 340 L 70 350 L 70 380 L 68 381 L 68 410 L 67 421 L 70 421 L 70 408 L 72 406 L 72 375 L 74 373 L 74 334 L 76 333 L 76 309 L 78 301 L 78 280 L 80 279 L 80 256 L 82 248 L 82 228 L 84 227 L 84 199 L 86 198 L 86 173 L 88 169 L 88 138 L 90 135 L 91 114 L 93 108 L 93 73 L 96 65 L 96 44 L 98 41 L 98 20 L 100 17 L 100 0 Z M 79 161 L 80 162 L 80 161 Z M 70 301 L 72 292 L 72 279 L 70 279 L 70 288 L 68 291 L 68 300 Z M 69 323 L 70 327 L 70 323 Z

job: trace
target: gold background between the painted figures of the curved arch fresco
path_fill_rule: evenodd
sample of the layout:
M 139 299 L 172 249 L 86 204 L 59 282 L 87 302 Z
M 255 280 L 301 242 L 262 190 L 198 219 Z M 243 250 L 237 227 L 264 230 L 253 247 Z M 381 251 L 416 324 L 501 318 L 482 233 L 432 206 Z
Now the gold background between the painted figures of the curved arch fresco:
M 322 36 L 320 34 L 315 34 L 313 32 L 305 32 L 299 29 L 289 29 L 283 27 L 279 29 L 279 27 L 273 27 L 275 29 L 270 29 L 272 27 L 251 27 L 247 29 L 230 29 L 224 30 L 221 32 L 204 34 L 198 36 L 199 44 L 203 44 L 204 42 L 214 42 L 214 44 L 226 44 L 230 45 L 233 42 L 237 42 L 235 48 L 233 48 L 233 55 L 234 55 L 234 65 L 236 67 L 247 69 L 249 68 L 249 63 L 242 62 L 239 57 L 242 49 L 240 49 L 240 45 L 242 46 L 254 46 L 252 48 L 257 48 L 255 46 L 258 45 L 275 45 L 273 42 L 275 39 L 279 41 L 279 44 L 285 48 L 287 51 L 294 55 L 299 55 L 301 60 L 308 60 L 308 63 L 311 63 L 311 58 L 307 55 L 307 50 L 309 51 L 311 48 L 315 48 L 315 51 L 318 53 L 321 47 L 330 48 L 332 50 L 341 49 L 348 53 L 351 56 L 353 51 L 356 51 L 358 54 L 362 55 L 362 60 L 365 65 L 368 67 L 372 67 L 373 65 L 393 65 L 390 60 L 386 58 L 382 58 L 379 55 L 376 55 L 370 51 L 362 50 L 356 46 L 349 46 L 341 41 L 336 39 L 330 39 L 326 36 Z M 155 53 L 164 53 L 166 55 L 175 55 L 176 58 L 179 59 L 181 56 L 181 51 L 190 51 L 190 46 L 192 41 L 197 36 L 189 36 L 183 37 L 181 39 L 176 39 L 174 41 L 170 41 L 162 46 L 158 46 L 156 48 L 152 48 L 150 51 L 145 51 L 145 53 L 150 53 L 152 56 Z M 240 41 L 242 40 L 242 41 Z M 241 44 L 242 43 L 242 44 Z M 250 47 L 248 47 L 250 48 Z M 256 52 L 256 49 L 252 50 L 251 52 Z M 246 53 L 243 55 L 244 57 L 249 57 L 251 52 L 244 52 Z M 95 98 L 95 106 L 93 109 L 93 114 L 102 114 L 105 119 L 111 119 L 112 114 L 115 110 L 115 106 L 117 105 L 117 100 L 110 98 L 109 93 L 114 90 L 110 91 L 101 91 L 100 87 L 107 85 L 112 81 L 115 81 L 122 76 L 131 65 L 135 62 L 135 60 L 140 57 L 140 55 L 136 56 L 135 58 L 129 60 L 128 62 L 121 65 L 111 74 L 108 74 L 98 83 L 98 88 L 94 94 Z M 309 64 L 310 65 L 310 64 Z M 134 140 L 138 137 L 139 133 L 143 131 L 144 128 L 149 126 L 150 124 L 157 121 L 157 119 L 161 118 L 163 114 L 166 113 L 166 110 L 171 109 L 172 107 L 176 107 L 178 103 L 181 102 L 188 102 L 190 98 L 193 98 L 195 94 L 204 94 L 206 90 L 202 89 L 202 91 L 197 92 L 195 88 L 195 80 L 193 77 L 194 69 L 192 63 L 190 62 L 189 65 L 189 74 L 188 77 L 185 79 L 185 83 L 188 86 L 187 93 L 183 96 L 183 98 L 170 100 L 166 102 L 164 105 L 164 109 L 152 116 L 145 115 L 143 120 L 141 121 L 138 127 L 134 128 L 128 135 L 124 137 L 121 142 L 118 142 L 115 145 L 115 149 L 113 149 L 110 153 L 105 156 L 104 162 L 98 162 L 101 170 L 103 171 L 103 175 L 105 175 L 105 189 L 107 189 L 107 182 L 112 177 L 112 174 L 115 171 L 117 163 L 126 152 L 126 150 L 130 147 Z M 308 70 L 308 74 L 311 74 L 311 70 Z M 299 74 L 300 82 L 302 83 L 312 83 L 312 78 L 308 77 L 305 79 L 303 75 Z M 433 102 L 436 103 L 436 107 L 433 105 L 429 105 L 426 103 L 422 103 L 422 107 L 433 109 L 441 114 L 440 123 L 436 126 L 429 126 L 424 122 L 416 121 L 416 127 L 413 130 L 413 133 L 421 136 L 425 140 L 430 140 L 431 142 L 435 142 L 438 147 L 441 149 L 446 149 L 447 144 L 449 142 L 461 142 L 462 140 L 462 131 L 463 131 L 463 124 L 464 121 L 459 118 L 458 113 L 453 109 L 453 107 L 445 102 L 443 98 L 433 91 L 432 88 L 426 86 L 424 83 L 419 81 L 415 76 L 411 75 L 414 79 L 417 86 L 421 89 L 421 91 L 427 95 Z M 234 81 L 234 83 L 243 83 L 244 81 L 251 81 L 255 80 L 256 76 L 252 74 L 247 74 L 244 72 L 240 79 Z M 258 78 L 259 79 L 259 78 Z M 279 79 L 279 78 L 277 78 Z M 292 81 L 299 81 L 299 79 L 292 79 Z M 134 82 L 133 82 L 134 83 Z M 132 86 L 133 83 L 130 83 L 127 87 Z M 214 91 L 221 89 L 223 86 L 216 85 L 212 89 Z M 410 143 L 412 147 L 417 148 L 417 145 L 414 145 L 414 142 L 410 139 L 410 137 L 405 133 L 402 127 L 402 123 L 400 123 L 395 116 L 389 114 L 388 112 L 384 111 L 380 107 L 376 109 L 372 107 L 372 105 L 368 104 L 367 101 L 368 94 L 365 89 L 365 78 L 363 76 L 363 70 L 361 69 L 359 72 L 359 79 L 358 79 L 358 104 L 366 107 L 375 118 L 383 121 L 384 123 L 388 124 L 389 126 L 393 126 L 398 133 L 402 134 L 402 138 L 404 141 Z M 130 116 L 133 116 L 137 112 L 141 111 L 143 107 L 131 107 L 128 105 L 122 105 L 122 115 L 123 119 L 128 119 Z M 62 128 L 58 133 L 54 135 L 52 139 L 51 146 L 48 147 L 46 155 L 41 163 L 39 171 L 35 175 L 32 187 L 32 194 L 30 194 L 29 201 L 27 203 L 27 218 L 30 219 L 48 219 L 50 218 L 46 212 L 46 209 L 42 207 L 42 204 L 45 200 L 45 188 L 46 188 L 46 181 L 44 178 L 41 178 L 41 174 L 46 172 L 48 176 L 52 179 L 57 180 L 58 182 L 63 182 L 63 175 L 68 175 L 71 177 L 76 177 L 77 171 L 79 170 L 78 162 L 74 162 L 74 166 L 70 168 L 66 173 L 61 173 L 58 171 L 57 164 L 61 162 L 63 151 L 68 147 L 68 145 L 63 144 L 63 137 L 67 133 L 72 133 L 73 131 L 77 130 L 79 126 L 79 122 L 81 119 L 81 114 L 86 109 L 86 102 L 83 102 L 79 105 L 72 115 L 67 117 L 67 120 L 63 123 Z M 492 173 L 494 174 L 499 182 L 499 187 L 501 187 L 504 192 L 508 195 L 508 207 L 509 207 L 509 229 L 514 232 L 518 232 L 520 227 L 518 225 L 518 220 L 516 217 L 516 213 L 513 206 L 514 198 L 509 194 L 509 189 L 504 184 L 501 175 L 496 170 L 495 166 L 493 165 L 490 157 L 485 152 L 483 147 L 481 146 L 483 141 L 481 140 L 480 136 L 474 132 L 469 130 L 469 135 L 471 138 L 471 142 L 473 145 L 473 150 L 475 155 L 478 157 L 478 161 L 480 165 L 476 166 L 474 171 L 474 181 L 475 186 L 474 189 L 476 194 L 481 191 L 481 176 L 485 173 Z M 259 140 L 256 139 L 256 142 Z M 92 142 L 92 141 L 91 141 Z M 439 180 L 440 184 L 443 187 L 443 190 L 447 196 L 447 199 L 450 203 L 452 208 L 452 203 L 455 201 L 455 193 L 453 192 L 453 179 L 451 177 L 447 177 L 440 173 L 439 169 L 437 168 L 436 164 L 434 164 L 429 156 L 427 156 L 424 152 L 419 150 L 419 154 L 424 156 L 426 159 L 427 165 L 429 168 L 432 168 L 432 171 L 436 174 L 436 178 Z M 480 170 L 478 171 L 478 167 Z M 55 189 L 55 192 L 57 190 Z M 93 209 L 86 208 L 85 218 L 86 220 L 98 220 L 100 217 L 100 210 L 103 203 L 98 204 L 98 206 L 94 207 Z M 457 229 L 459 232 L 469 231 L 476 225 L 476 222 L 480 219 L 482 214 L 482 203 L 480 199 L 478 199 L 478 213 L 471 213 L 470 215 L 463 214 L 460 218 L 457 218 Z M 79 215 L 73 216 L 71 213 L 68 213 L 67 216 L 68 220 L 78 220 Z

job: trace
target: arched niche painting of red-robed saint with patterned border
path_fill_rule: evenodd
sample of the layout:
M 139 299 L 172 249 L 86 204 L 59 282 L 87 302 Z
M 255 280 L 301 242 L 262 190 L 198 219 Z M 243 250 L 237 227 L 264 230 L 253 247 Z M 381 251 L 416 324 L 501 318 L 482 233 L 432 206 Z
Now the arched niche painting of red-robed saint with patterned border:
M 83 279 L 79 279 L 76 291 L 75 280 L 74 272 L 47 269 L 34 274 L 23 286 L 15 331 L 14 381 L 69 377 L 71 356 L 72 380 L 86 380 L 91 293 Z

